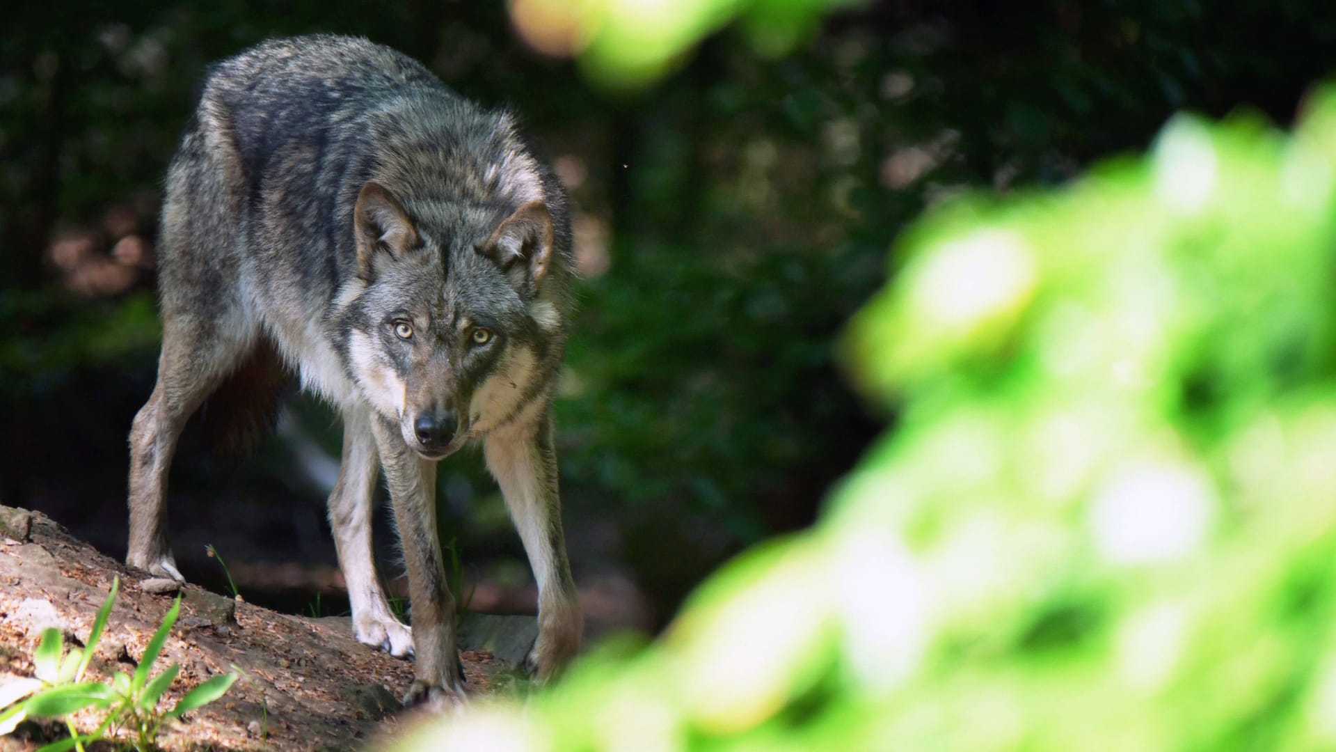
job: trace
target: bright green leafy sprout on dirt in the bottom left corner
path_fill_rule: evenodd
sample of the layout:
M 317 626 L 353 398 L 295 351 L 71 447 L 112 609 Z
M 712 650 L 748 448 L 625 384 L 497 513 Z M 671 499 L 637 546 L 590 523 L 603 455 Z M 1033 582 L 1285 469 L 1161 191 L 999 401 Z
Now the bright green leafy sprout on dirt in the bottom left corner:
M 119 590 L 120 578 L 116 578 L 106 602 L 98 609 L 98 617 L 83 649 L 72 648 L 61 658 L 64 640 L 60 630 L 51 628 L 41 633 L 41 642 L 32 657 L 36 676 L 0 688 L 0 707 L 5 708 L 0 712 L 0 735 L 12 732 L 29 717 L 57 717 L 64 720 L 69 736 L 47 744 L 37 752 L 65 749 L 84 752 L 84 744 L 91 741 L 123 745 L 122 731 L 128 732 L 130 747 L 148 752 L 158 748 L 158 732 L 167 720 L 178 719 L 218 700 L 236 681 L 235 673 L 215 676 L 187 692 L 171 709 L 159 709 L 163 693 L 180 672 L 180 665 L 172 664 L 162 673 L 151 676 L 154 662 L 162 654 L 163 645 L 180 613 L 179 595 L 144 648 L 134 676 L 116 672 L 111 682 L 84 681 L 84 672 L 107 628 L 107 618 L 111 616 L 111 606 Z M 106 716 L 94 731 L 80 735 L 73 725 L 73 713 L 87 708 L 104 711 Z

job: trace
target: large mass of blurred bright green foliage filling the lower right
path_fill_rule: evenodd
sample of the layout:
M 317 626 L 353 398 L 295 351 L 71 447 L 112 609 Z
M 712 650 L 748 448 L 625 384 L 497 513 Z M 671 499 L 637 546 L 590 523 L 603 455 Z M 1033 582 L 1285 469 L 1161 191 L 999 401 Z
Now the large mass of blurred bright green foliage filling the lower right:
M 1332 748 L 1333 249 L 1336 90 L 930 213 L 844 340 L 902 420 L 816 529 L 399 748 Z

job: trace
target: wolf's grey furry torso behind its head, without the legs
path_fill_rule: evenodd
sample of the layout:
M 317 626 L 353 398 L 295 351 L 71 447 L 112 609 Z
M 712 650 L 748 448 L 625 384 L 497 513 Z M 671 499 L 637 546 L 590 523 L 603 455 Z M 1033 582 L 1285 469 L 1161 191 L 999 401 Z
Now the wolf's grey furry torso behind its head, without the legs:
M 353 209 L 369 182 L 389 190 L 438 241 L 481 230 L 485 237 L 541 198 L 554 233 L 545 289 L 569 312 L 565 193 L 512 115 L 473 104 L 413 59 L 365 39 L 262 43 L 204 76 L 163 202 L 164 321 L 247 332 L 258 322 L 269 340 L 259 344 L 274 345 L 257 347 L 255 363 L 235 364 L 235 377 L 212 400 L 226 401 L 235 383 L 238 395 L 270 408 L 212 409 L 228 424 L 216 434 L 253 435 L 269 423 L 277 403 L 254 397 L 277 388 L 282 363 L 334 401 L 349 393 L 349 365 L 339 361 L 346 333 L 331 312 L 357 286 Z M 466 254 L 465 261 L 476 256 L 472 246 L 441 250 Z

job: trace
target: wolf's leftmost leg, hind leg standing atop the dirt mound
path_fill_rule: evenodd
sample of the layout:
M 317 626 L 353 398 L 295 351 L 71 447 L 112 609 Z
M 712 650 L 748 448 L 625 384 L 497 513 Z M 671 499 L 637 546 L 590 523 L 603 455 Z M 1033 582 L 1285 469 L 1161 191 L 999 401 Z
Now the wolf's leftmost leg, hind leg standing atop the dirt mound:
M 176 440 L 254 343 L 250 328 L 224 329 L 216 317 L 163 321 L 158 383 L 130 430 L 130 566 L 184 582 L 167 543 L 167 474 Z

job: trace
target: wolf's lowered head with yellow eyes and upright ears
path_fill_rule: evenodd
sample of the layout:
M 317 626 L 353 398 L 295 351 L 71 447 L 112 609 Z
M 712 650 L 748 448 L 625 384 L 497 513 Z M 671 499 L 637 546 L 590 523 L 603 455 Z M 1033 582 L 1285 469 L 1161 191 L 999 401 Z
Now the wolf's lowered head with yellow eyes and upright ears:
M 370 182 L 354 227 L 346 363 L 410 448 L 444 458 L 544 401 L 561 360 L 566 270 L 542 201 L 410 211 Z

